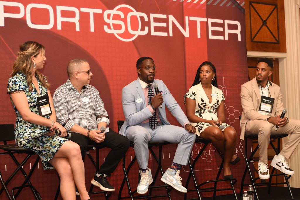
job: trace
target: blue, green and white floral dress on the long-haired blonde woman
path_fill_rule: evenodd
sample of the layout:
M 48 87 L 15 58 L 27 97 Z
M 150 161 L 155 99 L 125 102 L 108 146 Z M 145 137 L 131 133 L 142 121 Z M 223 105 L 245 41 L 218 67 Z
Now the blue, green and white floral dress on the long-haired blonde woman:
M 37 80 L 38 77 L 36 76 Z M 33 86 L 32 92 L 29 91 L 27 85 L 26 76 L 23 73 L 17 73 L 15 76 L 8 80 L 7 93 L 12 94 L 16 92 L 25 92 L 28 100 L 28 106 L 31 112 L 39 115 L 37 97 L 48 95 L 47 88 L 45 88 L 41 82 L 39 82 L 40 93 L 38 94 L 35 86 Z M 11 98 L 10 98 L 11 100 Z M 13 101 L 11 100 L 13 104 Z M 32 124 L 28 121 L 23 120 L 19 111 L 13 104 L 13 108 L 16 112 L 16 129 L 15 129 L 15 141 L 19 147 L 29 148 L 41 157 L 41 162 L 44 169 L 53 169 L 50 165 L 49 160 L 53 158 L 55 153 L 64 144 L 67 139 L 58 136 L 41 136 L 38 139 L 30 139 L 38 136 L 42 133 L 49 131 L 49 127 Z M 45 116 L 49 119 L 49 115 Z

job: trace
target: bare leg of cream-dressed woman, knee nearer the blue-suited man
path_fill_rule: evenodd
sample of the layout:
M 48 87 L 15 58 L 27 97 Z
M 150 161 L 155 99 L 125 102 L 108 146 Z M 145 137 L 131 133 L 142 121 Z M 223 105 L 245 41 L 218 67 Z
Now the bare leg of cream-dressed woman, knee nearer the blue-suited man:
M 225 136 L 224 135 L 225 134 L 223 134 L 223 132 L 219 128 L 210 126 L 210 127 L 207 127 L 201 133 L 200 137 L 202 137 L 203 139 L 210 140 L 211 143 L 214 145 L 214 147 L 218 151 L 220 151 L 220 153 L 224 156 L 224 162 L 223 162 L 224 175 L 231 175 L 229 162 L 232 157 L 233 151 L 227 150 L 227 147 L 225 146 Z M 225 148 L 226 148 L 226 151 L 225 151 Z M 228 160 L 228 155 L 231 155 L 231 157 L 229 157 L 229 160 Z

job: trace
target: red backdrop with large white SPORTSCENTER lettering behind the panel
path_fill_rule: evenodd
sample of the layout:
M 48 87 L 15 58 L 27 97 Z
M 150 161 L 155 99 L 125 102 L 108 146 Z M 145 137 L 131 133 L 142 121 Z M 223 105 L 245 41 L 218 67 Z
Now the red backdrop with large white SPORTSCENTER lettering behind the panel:
M 217 69 L 218 85 L 226 97 L 226 123 L 237 131 L 236 154 L 243 157 L 244 144 L 239 139 L 238 120 L 241 113 L 240 85 L 247 81 L 248 74 L 243 6 L 244 1 L 234 0 L 0 1 L 1 123 L 14 124 L 16 120 L 7 94 L 7 80 L 19 45 L 28 40 L 37 41 L 46 47 L 47 61 L 42 73 L 52 83 L 52 94 L 67 80 L 68 61 L 74 58 L 89 61 L 93 72 L 91 85 L 99 90 L 110 115 L 110 127 L 115 131 L 117 120 L 124 120 L 121 90 L 137 79 L 135 63 L 139 57 L 150 56 L 154 59 L 158 68 L 155 78 L 165 82 L 184 111 L 183 96 L 190 88 L 197 68 L 207 60 Z M 128 19 L 128 13 L 140 17 L 131 16 Z M 133 30 L 131 33 L 128 31 L 130 29 Z M 170 113 L 167 115 L 172 124 L 179 125 Z M 176 146 L 168 145 L 163 148 L 164 169 L 172 163 Z M 193 157 L 200 148 L 201 146 L 194 146 Z M 196 166 L 198 180 L 201 182 L 215 178 L 221 160 L 214 150 L 211 145 Z M 101 162 L 107 152 L 107 149 L 101 150 Z M 91 154 L 94 155 L 94 152 Z M 126 155 L 126 159 L 130 161 L 134 157 L 134 151 L 130 149 Z M 23 156 L 18 157 L 21 159 Z M 88 159 L 85 161 L 86 185 L 89 187 L 95 168 Z M 24 170 L 29 171 L 30 163 L 33 162 L 34 158 L 26 163 Z M 150 160 L 149 168 L 155 166 Z M 232 166 L 233 175 L 238 179 L 235 185 L 237 192 L 241 181 L 238 177 L 241 177 L 244 167 L 243 159 L 238 165 Z M 4 180 L 13 169 L 15 164 L 11 159 L 1 156 L 0 170 Z M 134 190 L 138 181 L 137 169 L 135 164 L 129 176 Z M 181 173 L 183 184 L 188 172 L 189 169 L 184 167 Z M 120 164 L 109 179 L 116 188 L 111 199 L 117 199 L 122 178 Z M 8 187 L 15 187 L 20 180 L 23 180 L 23 176 L 16 175 Z M 43 199 L 54 198 L 58 184 L 55 170 L 43 170 L 40 163 L 31 180 Z M 190 186 L 192 188 L 193 184 Z M 228 187 L 226 183 L 223 186 Z M 162 192 L 164 189 L 157 193 Z M 21 199 L 33 198 L 28 189 L 24 189 L 21 195 Z M 173 199 L 183 197 L 182 193 L 174 190 L 171 195 Z M 95 197 L 103 198 L 103 195 Z M 5 199 L 5 194 L 2 193 L 0 198 Z

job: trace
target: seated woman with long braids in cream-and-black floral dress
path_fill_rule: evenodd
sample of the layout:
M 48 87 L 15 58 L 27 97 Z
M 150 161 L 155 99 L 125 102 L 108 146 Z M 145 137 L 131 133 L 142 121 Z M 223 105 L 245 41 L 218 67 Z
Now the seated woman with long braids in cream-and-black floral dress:
M 240 158 L 233 156 L 236 148 L 236 131 L 224 123 L 224 95 L 217 88 L 216 68 L 211 62 L 203 62 L 197 70 L 192 87 L 184 96 L 187 118 L 196 127 L 196 134 L 211 143 L 224 157 L 224 178 L 233 178 L 229 163 Z M 218 126 L 223 124 L 224 129 Z

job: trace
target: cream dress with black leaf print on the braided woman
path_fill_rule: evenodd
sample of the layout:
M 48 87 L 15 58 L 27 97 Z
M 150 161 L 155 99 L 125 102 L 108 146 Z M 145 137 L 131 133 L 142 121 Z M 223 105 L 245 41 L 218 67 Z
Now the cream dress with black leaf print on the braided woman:
M 225 100 L 225 98 L 223 92 L 213 85 L 211 85 L 211 96 L 212 101 L 209 103 L 208 97 L 206 96 L 201 83 L 199 83 L 198 85 L 192 86 L 184 95 L 184 103 L 185 98 L 196 100 L 195 115 L 203 119 L 217 121 L 217 108 L 220 106 L 221 101 Z M 225 128 L 229 127 L 229 125 L 224 122 L 222 124 Z M 205 128 L 212 126 L 205 122 L 192 123 L 192 125 L 196 127 L 196 135 L 198 136 L 200 136 L 201 132 L 204 131 Z

